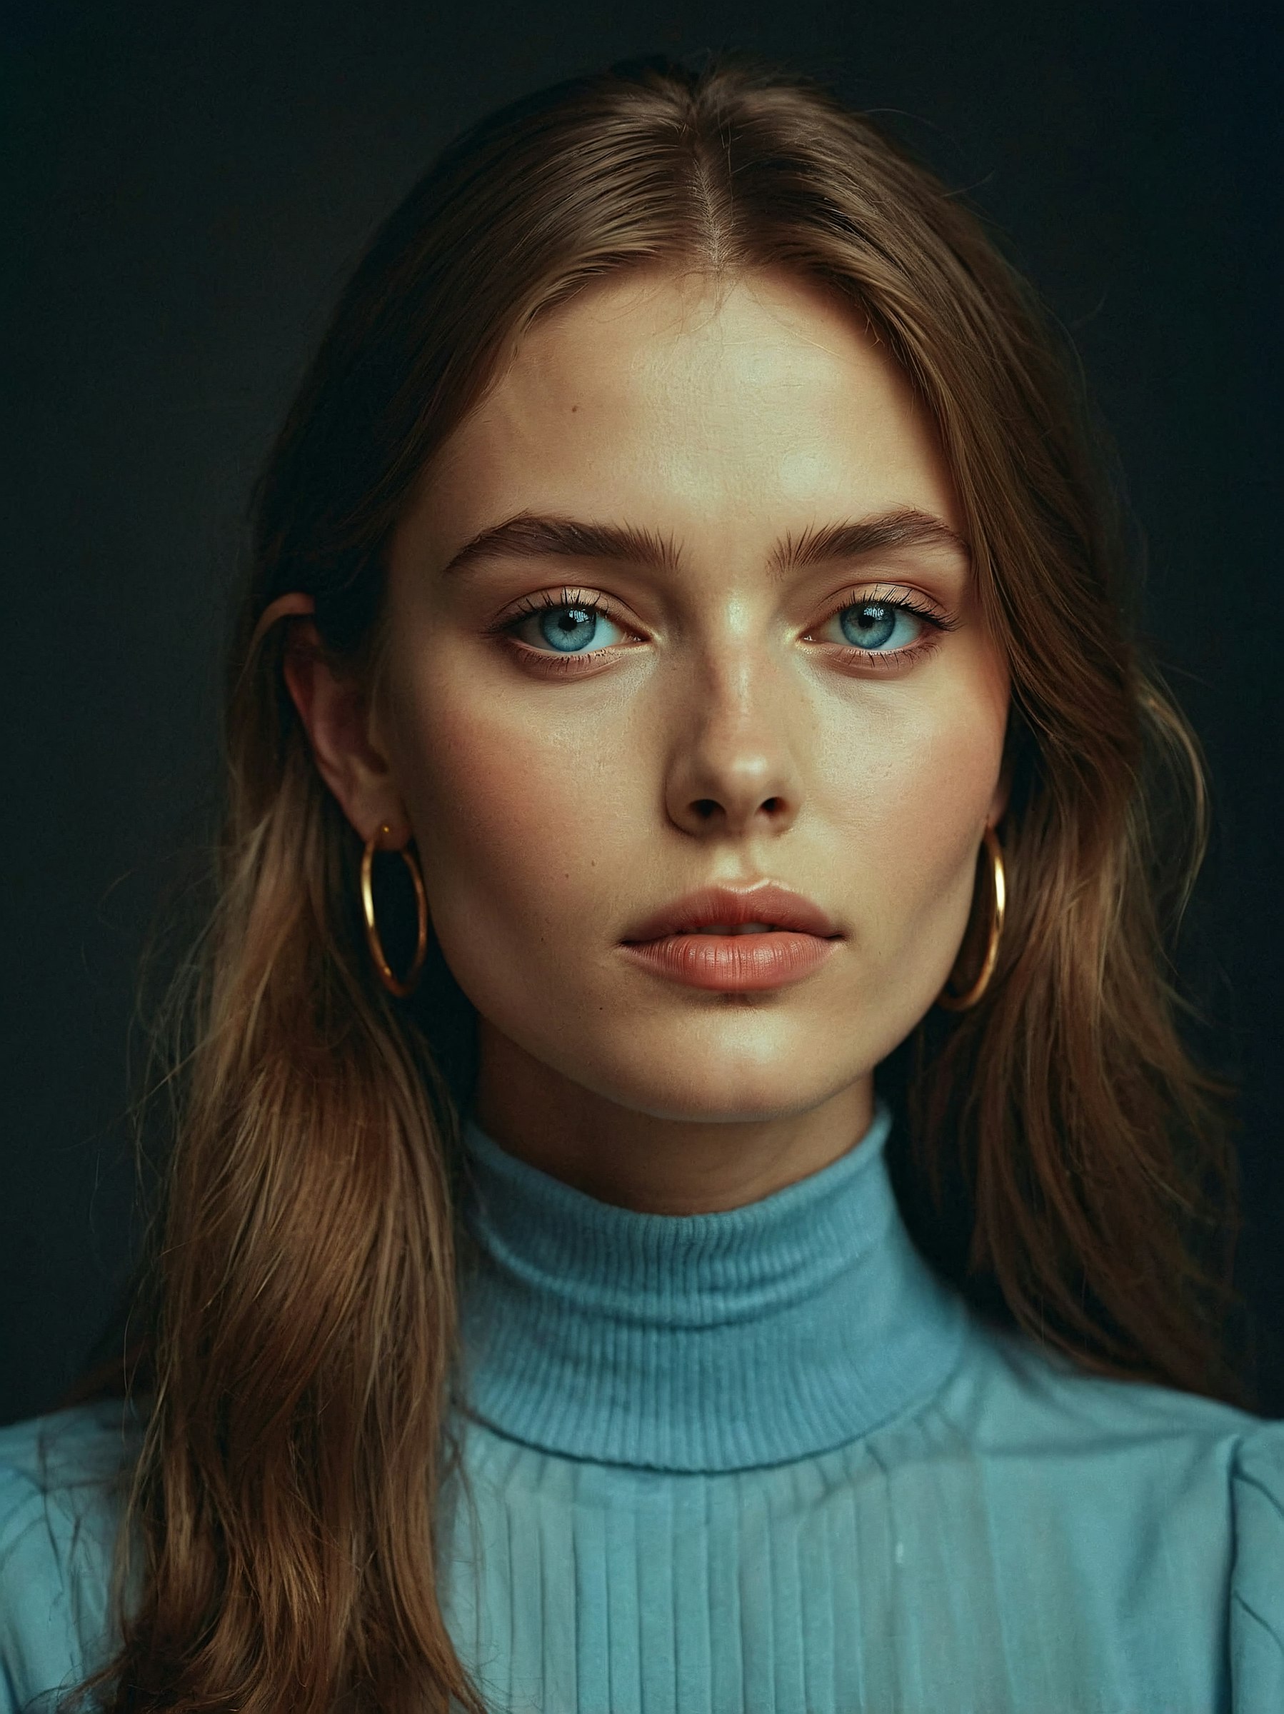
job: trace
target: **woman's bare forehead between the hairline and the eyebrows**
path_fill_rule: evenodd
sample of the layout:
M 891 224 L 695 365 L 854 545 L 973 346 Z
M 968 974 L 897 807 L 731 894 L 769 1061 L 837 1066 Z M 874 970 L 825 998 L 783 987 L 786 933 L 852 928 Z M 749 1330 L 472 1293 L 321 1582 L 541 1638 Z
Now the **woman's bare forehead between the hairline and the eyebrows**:
M 936 435 L 857 310 L 785 273 L 597 281 L 538 321 L 434 464 L 441 547 L 530 509 L 693 531 L 897 506 L 957 526 Z

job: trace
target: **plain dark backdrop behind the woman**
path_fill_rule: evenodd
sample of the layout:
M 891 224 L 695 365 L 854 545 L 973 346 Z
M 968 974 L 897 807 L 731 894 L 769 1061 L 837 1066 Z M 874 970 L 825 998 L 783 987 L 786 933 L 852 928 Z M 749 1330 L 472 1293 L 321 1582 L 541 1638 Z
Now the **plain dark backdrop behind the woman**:
M 207 838 L 249 483 L 375 223 L 459 127 L 657 50 L 835 77 L 967 189 L 1071 329 L 1150 550 L 1217 828 L 1181 967 L 1243 1088 L 1262 1404 L 1284 1414 L 1277 5 L 101 3 L 3 19 L 0 1421 L 125 1275 L 127 1042 Z

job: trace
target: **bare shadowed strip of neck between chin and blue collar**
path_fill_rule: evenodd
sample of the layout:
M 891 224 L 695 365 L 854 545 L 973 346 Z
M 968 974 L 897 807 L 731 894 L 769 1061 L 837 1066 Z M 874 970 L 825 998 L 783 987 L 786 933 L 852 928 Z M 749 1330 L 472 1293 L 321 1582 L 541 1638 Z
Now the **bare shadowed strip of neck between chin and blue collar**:
M 478 1023 L 477 1124 L 518 1160 L 638 1214 L 718 1214 L 758 1202 L 847 1154 L 874 1112 L 873 1073 L 804 1112 L 645 1112 Z

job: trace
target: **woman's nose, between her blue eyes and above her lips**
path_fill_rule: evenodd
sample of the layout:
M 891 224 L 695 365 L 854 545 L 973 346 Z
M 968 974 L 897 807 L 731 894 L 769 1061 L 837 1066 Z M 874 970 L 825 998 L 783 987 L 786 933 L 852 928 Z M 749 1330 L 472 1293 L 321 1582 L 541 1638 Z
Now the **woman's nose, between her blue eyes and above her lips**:
M 701 836 L 783 833 L 802 797 L 789 718 L 799 687 L 741 643 L 705 662 L 684 689 L 665 782 L 669 818 Z

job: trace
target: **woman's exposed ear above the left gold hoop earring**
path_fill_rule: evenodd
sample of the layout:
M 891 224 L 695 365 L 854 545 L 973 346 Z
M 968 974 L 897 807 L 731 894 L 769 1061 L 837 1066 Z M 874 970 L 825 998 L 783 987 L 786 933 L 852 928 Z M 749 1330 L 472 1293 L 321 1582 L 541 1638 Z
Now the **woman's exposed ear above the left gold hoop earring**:
M 389 850 L 410 838 L 410 819 L 387 758 L 372 742 L 365 687 L 326 655 L 314 620 L 291 620 L 285 682 L 312 744 L 317 771 L 362 840 L 387 826 Z

